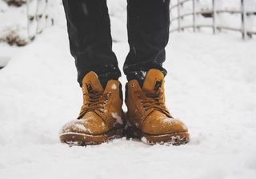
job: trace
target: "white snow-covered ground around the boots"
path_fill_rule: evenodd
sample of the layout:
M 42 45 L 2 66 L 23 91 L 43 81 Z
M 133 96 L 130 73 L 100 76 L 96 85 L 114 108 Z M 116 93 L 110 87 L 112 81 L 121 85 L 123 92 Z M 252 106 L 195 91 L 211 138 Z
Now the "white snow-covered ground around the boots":
M 125 29 L 124 17 L 112 17 L 112 27 Z M 119 42 L 122 28 L 113 31 L 119 33 L 114 52 L 120 68 L 128 52 Z M 58 130 L 82 104 L 67 39 L 65 26 L 54 26 L 26 47 L 0 44 L 0 52 L 12 57 L 0 70 L 1 178 L 255 177 L 255 38 L 170 35 L 167 105 L 190 129 L 189 144 L 150 146 L 122 138 L 86 148 L 58 141 Z

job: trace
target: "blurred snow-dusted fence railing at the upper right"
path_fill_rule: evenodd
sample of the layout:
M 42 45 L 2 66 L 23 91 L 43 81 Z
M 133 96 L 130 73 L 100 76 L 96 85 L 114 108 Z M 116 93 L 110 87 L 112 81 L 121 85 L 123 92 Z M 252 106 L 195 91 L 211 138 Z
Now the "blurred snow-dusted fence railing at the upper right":
M 211 9 L 210 10 L 197 10 L 197 2 L 199 0 L 177 0 L 176 4 L 170 5 L 170 11 L 173 11 L 174 9 L 177 9 L 177 16 L 171 17 L 170 23 L 177 21 L 177 27 L 174 29 L 170 29 L 170 33 L 174 31 L 181 31 L 187 28 L 192 28 L 195 32 L 197 29 L 200 29 L 201 27 L 210 27 L 213 30 L 213 34 L 216 34 L 217 30 L 233 30 L 238 31 L 242 34 L 242 38 L 246 39 L 248 37 L 252 37 L 256 34 L 256 31 L 254 30 L 248 30 L 246 19 L 249 16 L 254 16 L 256 18 L 256 10 L 246 10 L 245 8 L 245 2 L 246 0 L 241 0 L 241 7 L 240 10 L 218 10 L 216 8 L 216 0 L 212 0 L 211 3 Z M 182 7 L 184 3 L 186 2 L 192 2 L 192 12 L 190 13 L 181 13 Z M 217 24 L 218 14 L 241 14 L 241 24 L 242 26 L 240 28 L 234 27 L 234 26 L 221 26 Z M 202 15 L 205 18 L 212 18 L 212 24 L 199 24 L 197 22 L 197 16 Z M 182 19 L 185 17 L 192 16 L 193 20 L 190 25 L 182 26 Z

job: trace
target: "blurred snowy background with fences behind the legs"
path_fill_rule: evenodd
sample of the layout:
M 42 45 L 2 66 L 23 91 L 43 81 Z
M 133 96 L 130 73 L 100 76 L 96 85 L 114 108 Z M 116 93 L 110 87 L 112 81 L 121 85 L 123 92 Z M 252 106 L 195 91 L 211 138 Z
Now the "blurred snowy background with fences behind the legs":
M 126 1 L 107 3 L 113 41 L 126 42 Z M 61 0 L 0 0 L 0 22 L 0 68 L 16 46 L 26 46 L 51 26 L 66 28 Z M 253 38 L 256 1 L 170 0 L 170 33 L 175 31 L 236 33 L 245 40 Z M 5 43 L 9 46 L 2 45 Z

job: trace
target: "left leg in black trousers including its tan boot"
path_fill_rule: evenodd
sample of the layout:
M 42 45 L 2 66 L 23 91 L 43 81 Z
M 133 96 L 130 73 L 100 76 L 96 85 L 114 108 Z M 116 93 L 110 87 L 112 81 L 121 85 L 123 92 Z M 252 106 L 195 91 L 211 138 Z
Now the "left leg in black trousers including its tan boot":
M 121 73 L 112 51 L 106 0 L 63 0 L 63 4 L 83 104 L 78 119 L 62 127 L 59 139 L 69 145 L 96 145 L 122 137 Z

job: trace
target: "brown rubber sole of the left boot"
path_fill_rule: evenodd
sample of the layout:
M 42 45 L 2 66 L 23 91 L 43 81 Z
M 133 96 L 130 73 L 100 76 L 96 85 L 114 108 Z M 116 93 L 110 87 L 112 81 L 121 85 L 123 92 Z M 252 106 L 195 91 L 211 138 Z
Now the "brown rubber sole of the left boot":
M 98 145 L 114 138 L 122 137 L 123 129 L 113 129 L 107 133 L 98 135 L 85 133 L 62 133 L 59 135 L 60 141 L 68 145 Z

